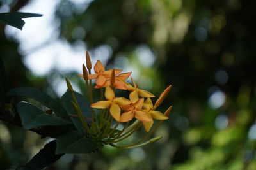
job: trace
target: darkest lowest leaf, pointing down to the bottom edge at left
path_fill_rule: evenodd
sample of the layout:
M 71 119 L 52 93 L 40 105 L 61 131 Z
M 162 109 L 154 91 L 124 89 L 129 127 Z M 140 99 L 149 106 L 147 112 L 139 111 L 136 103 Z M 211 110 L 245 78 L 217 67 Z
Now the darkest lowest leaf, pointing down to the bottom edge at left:
M 64 154 L 55 154 L 56 151 L 56 140 L 47 143 L 40 152 L 38 152 L 25 166 L 19 168 L 19 170 L 36 170 L 44 169 L 56 162 Z

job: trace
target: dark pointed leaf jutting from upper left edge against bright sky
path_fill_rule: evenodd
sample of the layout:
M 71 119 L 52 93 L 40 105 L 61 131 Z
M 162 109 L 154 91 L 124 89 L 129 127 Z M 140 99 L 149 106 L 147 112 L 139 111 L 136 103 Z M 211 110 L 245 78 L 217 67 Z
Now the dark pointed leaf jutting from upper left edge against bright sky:
M 17 29 L 22 30 L 25 22 L 22 18 L 29 17 L 41 17 L 41 14 L 36 13 L 21 13 L 21 12 L 13 12 L 13 13 L 0 13 L 0 22 L 4 24 L 11 25 L 16 27 Z

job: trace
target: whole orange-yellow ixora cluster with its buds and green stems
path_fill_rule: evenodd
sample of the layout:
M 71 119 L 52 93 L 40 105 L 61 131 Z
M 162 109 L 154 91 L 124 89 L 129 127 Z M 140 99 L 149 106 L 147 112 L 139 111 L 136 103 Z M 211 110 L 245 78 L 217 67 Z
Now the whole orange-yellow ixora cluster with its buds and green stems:
M 73 98 L 72 104 L 77 113 L 77 115 L 71 116 L 79 118 L 88 138 L 97 143 L 115 146 L 116 148 L 135 148 L 160 139 L 161 136 L 158 136 L 145 141 L 154 134 L 154 131 L 156 131 L 157 127 L 159 127 L 164 120 L 168 119 L 172 106 L 170 106 L 165 113 L 156 111 L 156 108 L 163 102 L 172 86 L 170 85 L 167 87 L 153 105 L 152 97 L 155 97 L 154 94 L 147 90 L 140 89 L 139 85 L 135 83 L 132 78 L 133 86 L 125 81 L 131 76 L 132 72 L 121 73 L 122 70 L 120 69 L 110 69 L 105 71 L 100 60 L 97 60 L 94 66 L 95 74 L 91 73 L 91 69 L 92 63 L 90 55 L 86 52 L 86 67 L 83 64 L 83 74 L 79 74 L 79 76 L 83 77 L 86 82 L 87 94 L 92 109 L 92 118 L 86 117 L 86 119 L 90 121 L 86 122 L 84 120 L 83 113 L 81 109 L 79 109 L 79 104 L 74 95 L 72 85 L 68 79 L 66 79 L 68 90 L 71 92 Z M 95 79 L 94 88 L 100 89 L 99 101 L 93 100 L 93 98 L 95 98 L 92 90 L 93 79 Z M 116 97 L 115 89 L 130 91 L 129 99 L 126 99 L 125 97 Z M 159 120 L 156 125 L 153 125 L 154 120 Z M 120 124 L 124 124 L 122 129 L 116 129 Z M 139 141 L 131 143 L 130 145 L 116 145 L 119 141 L 131 136 L 131 134 L 136 132 L 141 125 L 144 126 L 145 131 L 147 132 L 144 138 L 141 138 Z

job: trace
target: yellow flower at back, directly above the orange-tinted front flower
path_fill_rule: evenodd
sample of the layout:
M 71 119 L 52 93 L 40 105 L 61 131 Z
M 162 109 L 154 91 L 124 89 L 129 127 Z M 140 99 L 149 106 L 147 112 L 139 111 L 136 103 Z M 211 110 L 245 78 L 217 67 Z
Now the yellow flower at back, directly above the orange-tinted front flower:
M 127 90 L 131 91 L 129 97 L 132 103 L 135 103 L 138 99 L 139 96 L 141 97 L 155 97 L 154 94 L 148 92 L 147 90 L 141 90 L 138 88 L 138 84 L 135 83 L 135 81 L 133 80 L 133 78 L 131 78 L 132 83 L 134 86 L 130 85 L 129 83 L 125 82 L 124 80 L 121 80 L 125 86 L 127 87 Z

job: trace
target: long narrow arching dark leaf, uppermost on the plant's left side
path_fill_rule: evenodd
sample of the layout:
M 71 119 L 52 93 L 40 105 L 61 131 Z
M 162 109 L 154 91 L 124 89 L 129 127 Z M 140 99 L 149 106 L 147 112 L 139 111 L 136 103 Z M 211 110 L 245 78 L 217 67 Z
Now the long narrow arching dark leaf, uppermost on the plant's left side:
M 39 101 L 48 108 L 51 108 L 59 117 L 64 118 L 65 120 L 70 121 L 67 111 L 63 108 L 62 104 L 58 103 L 56 99 L 53 99 L 51 96 L 45 94 L 39 89 L 33 87 L 18 87 L 12 89 L 8 92 L 9 96 L 20 96 L 28 97 Z

